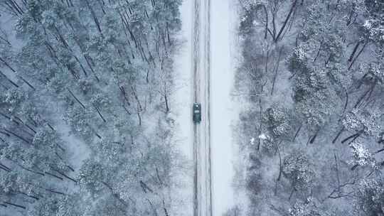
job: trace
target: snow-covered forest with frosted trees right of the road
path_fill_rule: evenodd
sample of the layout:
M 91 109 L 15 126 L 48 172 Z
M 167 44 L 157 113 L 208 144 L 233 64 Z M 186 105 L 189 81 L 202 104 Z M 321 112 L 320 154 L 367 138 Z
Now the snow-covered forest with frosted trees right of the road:
M 239 8 L 249 205 L 228 215 L 384 215 L 384 1 Z

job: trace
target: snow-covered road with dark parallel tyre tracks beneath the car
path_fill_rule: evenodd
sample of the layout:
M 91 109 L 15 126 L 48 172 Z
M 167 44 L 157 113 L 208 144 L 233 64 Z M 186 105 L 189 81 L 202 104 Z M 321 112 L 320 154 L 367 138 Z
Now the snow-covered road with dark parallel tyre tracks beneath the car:
M 210 0 L 193 3 L 193 102 L 201 103 L 201 124 L 193 126 L 193 215 L 212 215 L 210 181 Z

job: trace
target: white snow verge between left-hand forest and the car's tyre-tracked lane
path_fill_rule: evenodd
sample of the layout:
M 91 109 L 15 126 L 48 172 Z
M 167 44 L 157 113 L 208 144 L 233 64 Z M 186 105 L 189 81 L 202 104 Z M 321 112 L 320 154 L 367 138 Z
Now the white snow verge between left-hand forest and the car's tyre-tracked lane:
M 191 215 L 193 212 L 193 131 L 191 120 L 192 101 L 192 11 L 193 1 L 184 0 L 181 6 L 181 50 L 174 57 L 176 72 L 175 92 L 171 99 L 171 111 L 176 114 L 176 141 L 183 156 L 188 161 L 186 176 L 175 179 L 185 190 L 180 193 L 172 192 L 173 203 L 171 212 L 174 215 Z M 181 201 L 182 198 L 185 198 Z

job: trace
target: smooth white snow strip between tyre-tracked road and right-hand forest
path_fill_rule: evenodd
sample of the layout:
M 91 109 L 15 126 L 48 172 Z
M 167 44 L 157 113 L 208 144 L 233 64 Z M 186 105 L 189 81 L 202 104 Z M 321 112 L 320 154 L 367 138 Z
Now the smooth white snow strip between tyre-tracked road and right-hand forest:
M 233 207 L 233 144 L 232 121 L 238 118 L 238 104 L 231 98 L 235 69 L 231 55 L 233 7 L 230 0 L 212 0 L 211 16 L 211 148 L 213 215 L 221 216 Z

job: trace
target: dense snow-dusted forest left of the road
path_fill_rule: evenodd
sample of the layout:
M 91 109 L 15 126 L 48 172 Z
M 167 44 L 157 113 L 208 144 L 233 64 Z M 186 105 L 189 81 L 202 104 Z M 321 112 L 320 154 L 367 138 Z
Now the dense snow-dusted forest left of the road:
M 181 215 L 181 0 L 0 0 L 0 215 Z

